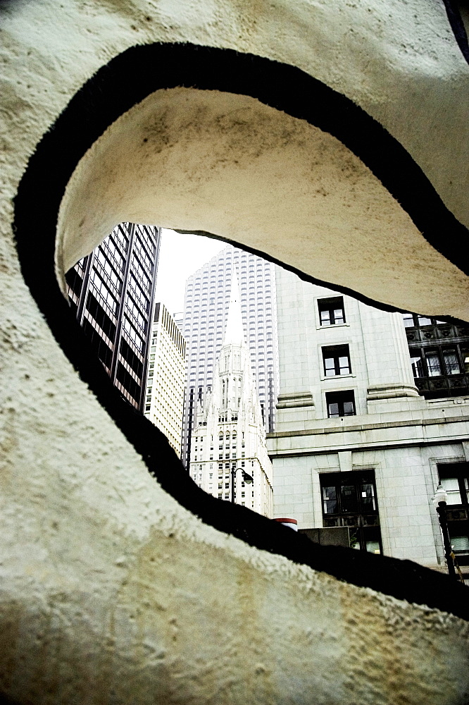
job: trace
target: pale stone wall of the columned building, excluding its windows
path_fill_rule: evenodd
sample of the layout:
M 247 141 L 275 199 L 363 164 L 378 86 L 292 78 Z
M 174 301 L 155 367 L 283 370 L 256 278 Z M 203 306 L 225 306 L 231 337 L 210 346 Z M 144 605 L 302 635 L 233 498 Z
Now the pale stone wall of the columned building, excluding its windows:
M 465 460 L 469 398 L 417 396 L 400 314 L 344 296 L 346 323 L 321 327 L 318 299 L 334 295 L 277 268 L 280 406 L 285 394 L 289 407 L 279 408 L 268 439 L 275 515 L 322 527 L 319 474 L 375 470 L 384 553 L 444 565 L 432 504 L 437 462 Z M 351 374 L 327 378 L 321 347 L 342 343 Z M 354 391 L 356 416 L 327 418 L 325 393 L 345 389 Z M 302 406 L 301 394 L 314 406 Z

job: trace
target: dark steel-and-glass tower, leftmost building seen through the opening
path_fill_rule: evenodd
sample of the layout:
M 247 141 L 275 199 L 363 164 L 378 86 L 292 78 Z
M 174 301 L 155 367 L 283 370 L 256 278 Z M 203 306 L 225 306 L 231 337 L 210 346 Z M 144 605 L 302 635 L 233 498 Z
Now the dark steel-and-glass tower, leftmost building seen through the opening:
M 123 397 L 143 411 L 161 228 L 120 223 L 70 269 L 70 307 Z

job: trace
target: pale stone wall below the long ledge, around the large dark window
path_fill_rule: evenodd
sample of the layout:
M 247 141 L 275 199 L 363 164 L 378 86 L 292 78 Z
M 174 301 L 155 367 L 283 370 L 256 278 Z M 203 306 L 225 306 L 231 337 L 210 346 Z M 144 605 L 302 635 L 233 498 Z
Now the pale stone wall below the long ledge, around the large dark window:
M 375 470 L 384 554 L 429 567 L 444 566 L 442 538 L 432 503 L 438 484 L 437 462 L 464 462 L 462 443 L 354 450 L 350 458 L 346 450 L 315 455 L 311 445 L 302 455 L 292 457 L 289 453 L 296 450 L 294 439 L 284 439 L 282 446 L 289 446 L 288 450 L 273 458 L 275 515 L 294 517 L 300 529 L 322 527 L 319 475 Z M 349 459 L 351 464 L 345 467 Z

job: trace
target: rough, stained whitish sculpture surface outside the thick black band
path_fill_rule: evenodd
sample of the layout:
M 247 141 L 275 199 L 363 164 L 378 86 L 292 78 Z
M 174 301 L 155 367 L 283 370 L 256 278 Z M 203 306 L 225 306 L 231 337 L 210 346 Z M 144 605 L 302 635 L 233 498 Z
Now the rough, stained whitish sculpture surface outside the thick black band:
M 18 0 L 2 8 L 1 39 L 4 692 L 54 705 L 467 701 L 462 620 L 257 551 L 161 490 L 51 336 L 11 231 L 12 199 L 44 132 L 100 66 L 155 41 L 302 68 L 377 118 L 468 223 L 468 67 L 443 6 Z M 105 217 L 121 215 L 131 212 Z M 254 232 L 246 242 L 259 247 Z M 269 252 L 287 259 L 281 244 Z M 427 257 L 423 239 L 415 247 L 415 308 L 429 305 L 437 262 L 448 286 L 431 312 L 462 317 L 459 272 Z M 387 295 L 400 305 L 395 287 Z

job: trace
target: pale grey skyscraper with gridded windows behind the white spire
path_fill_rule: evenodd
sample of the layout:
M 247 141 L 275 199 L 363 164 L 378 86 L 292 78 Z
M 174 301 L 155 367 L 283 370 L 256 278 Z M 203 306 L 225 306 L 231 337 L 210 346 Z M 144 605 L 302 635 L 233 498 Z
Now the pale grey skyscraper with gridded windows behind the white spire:
M 275 427 L 278 386 L 275 265 L 227 245 L 186 282 L 183 334 L 187 340 L 187 386 L 182 430 L 182 462 L 189 466 L 197 401 L 213 382 L 230 302 L 232 271 L 239 277 L 244 333 L 251 357 L 265 429 Z

